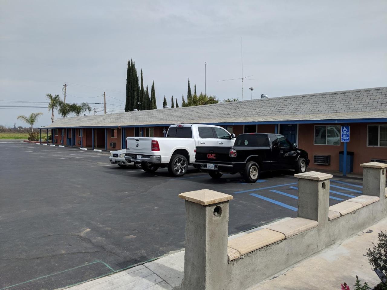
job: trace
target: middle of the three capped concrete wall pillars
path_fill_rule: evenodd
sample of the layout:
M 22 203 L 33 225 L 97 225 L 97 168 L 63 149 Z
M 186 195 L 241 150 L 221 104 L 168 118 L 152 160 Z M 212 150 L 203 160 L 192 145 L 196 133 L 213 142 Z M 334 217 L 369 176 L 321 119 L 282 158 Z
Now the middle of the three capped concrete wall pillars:
M 319 229 L 324 229 L 328 223 L 332 174 L 310 171 L 294 176 L 298 178 L 298 217 L 316 220 Z

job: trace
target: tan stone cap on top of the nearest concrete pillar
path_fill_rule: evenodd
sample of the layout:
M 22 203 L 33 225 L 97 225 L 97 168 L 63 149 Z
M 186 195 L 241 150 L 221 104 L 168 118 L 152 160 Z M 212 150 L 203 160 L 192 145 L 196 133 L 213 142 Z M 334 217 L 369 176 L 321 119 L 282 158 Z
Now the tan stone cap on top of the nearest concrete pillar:
M 183 200 L 199 203 L 199 205 L 213 205 L 215 203 L 220 203 L 223 201 L 228 201 L 233 199 L 232 195 L 213 191 L 211 189 L 200 189 L 200 190 L 180 193 L 179 197 L 182 198 Z

